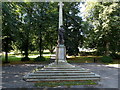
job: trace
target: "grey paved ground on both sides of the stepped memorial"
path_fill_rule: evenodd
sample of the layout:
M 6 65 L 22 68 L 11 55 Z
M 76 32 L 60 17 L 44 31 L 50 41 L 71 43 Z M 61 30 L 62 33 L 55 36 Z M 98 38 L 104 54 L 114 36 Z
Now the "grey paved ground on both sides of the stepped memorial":
M 118 88 L 118 68 L 103 64 L 73 64 L 99 74 L 99 85 L 76 85 L 70 88 Z M 25 82 L 23 76 L 36 68 L 38 64 L 7 65 L 2 67 L 2 88 L 36 88 L 33 82 Z M 120 85 L 119 85 L 120 86 Z M 65 88 L 59 87 L 59 88 Z

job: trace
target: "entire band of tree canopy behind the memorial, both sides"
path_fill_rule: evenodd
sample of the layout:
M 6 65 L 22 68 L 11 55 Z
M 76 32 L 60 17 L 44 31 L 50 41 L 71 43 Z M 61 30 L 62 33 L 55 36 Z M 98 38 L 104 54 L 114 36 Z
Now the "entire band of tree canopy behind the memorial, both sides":
M 68 55 L 78 55 L 79 47 L 93 48 L 96 54 L 120 52 L 120 3 L 85 2 L 85 20 L 79 15 L 81 2 L 64 2 L 63 25 Z M 51 53 L 58 38 L 58 2 L 3 2 L 2 49 L 20 50 L 29 60 L 31 51 Z

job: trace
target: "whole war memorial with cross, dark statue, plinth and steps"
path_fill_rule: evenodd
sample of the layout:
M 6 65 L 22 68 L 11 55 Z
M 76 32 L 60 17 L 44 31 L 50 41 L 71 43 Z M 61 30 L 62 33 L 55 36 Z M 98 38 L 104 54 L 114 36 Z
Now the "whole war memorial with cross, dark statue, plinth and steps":
M 24 76 L 27 82 L 39 81 L 84 81 L 94 80 L 99 81 L 100 75 L 89 72 L 82 67 L 76 67 L 67 63 L 66 48 L 64 45 L 64 28 L 63 28 L 63 3 L 59 2 L 59 28 L 58 28 L 58 45 L 56 47 L 55 62 L 44 66 L 43 68 L 36 68 L 33 72 Z

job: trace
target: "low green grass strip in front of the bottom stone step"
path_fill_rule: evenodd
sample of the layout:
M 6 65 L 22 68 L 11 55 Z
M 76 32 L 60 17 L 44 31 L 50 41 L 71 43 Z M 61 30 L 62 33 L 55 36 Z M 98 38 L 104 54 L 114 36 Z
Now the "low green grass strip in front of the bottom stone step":
M 94 81 L 49 81 L 35 83 L 35 87 L 56 87 L 56 86 L 72 86 L 72 85 L 96 85 Z

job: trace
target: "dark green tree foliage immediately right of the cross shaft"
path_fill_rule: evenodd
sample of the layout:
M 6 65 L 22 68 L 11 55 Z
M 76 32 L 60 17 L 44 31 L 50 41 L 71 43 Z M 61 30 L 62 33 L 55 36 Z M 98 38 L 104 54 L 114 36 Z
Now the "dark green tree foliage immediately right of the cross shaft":
M 65 46 L 68 55 L 78 55 L 79 46 L 82 46 L 83 36 L 81 35 L 82 19 L 78 5 L 80 3 L 64 3 L 64 29 Z

